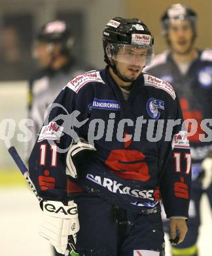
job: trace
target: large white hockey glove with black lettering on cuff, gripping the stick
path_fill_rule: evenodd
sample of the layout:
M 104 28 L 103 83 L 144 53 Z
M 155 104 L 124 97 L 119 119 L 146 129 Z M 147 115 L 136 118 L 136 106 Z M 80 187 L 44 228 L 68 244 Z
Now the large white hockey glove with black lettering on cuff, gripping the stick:
M 54 245 L 58 253 L 67 255 L 68 236 L 73 236 L 76 243 L 76 233 L 79 231 L 77 204 L 69 201 L 64 205 L 58 201 L 43 201 L 43 220 L 39 234 Z

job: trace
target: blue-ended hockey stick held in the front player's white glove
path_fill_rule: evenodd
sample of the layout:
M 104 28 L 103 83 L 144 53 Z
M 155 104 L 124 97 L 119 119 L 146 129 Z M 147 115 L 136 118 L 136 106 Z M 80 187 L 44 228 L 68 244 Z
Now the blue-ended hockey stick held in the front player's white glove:
M 28 171 L 26 165 L 24 164 L 24 161 L 22 161 L 22 159 L 20 158 L 16 148 L 14 146 L 11 146 L 9 148 L 8 152 L 9 152 L 10 156 L 12 156 L 16 165 L 18 166 L 18 169 L 20 169 L 22 175 L 24 176 L 24 179 L 26 179 L 26 181 L 29 184 L 31 190 L 33 191 L 33 193 L 35 194 L 35 196 L 37 197 L 39 202 L 41 202 L 41 200 L 43 200 L 43 199 L 37 194 L 37 190 L 35 188 L 35 185 L 31 181 L 31 179 L 29 178 L 29 171 Z M 77 250 L 76 250 L 76 247 L 75 247 L 75 241 L 73 240 L 73 236 L 69 236 L 68 250 L 69 250 L 69 255 L 70 256 L 80 256 L 79 253 L 77 253 Z

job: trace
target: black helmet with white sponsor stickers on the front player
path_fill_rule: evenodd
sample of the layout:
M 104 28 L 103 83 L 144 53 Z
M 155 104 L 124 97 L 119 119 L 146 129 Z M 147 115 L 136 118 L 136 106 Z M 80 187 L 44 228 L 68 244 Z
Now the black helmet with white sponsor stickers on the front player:
M 113 68 L 116 74 L 115 65 L 112 65 L 109 57 L 118 51 L 118 45 L 135 45 L 138 47 L 148 47 L 148 65 L 154 57 L 154 39 L 147 26 L 137 18 L 116 17 L 110 20 L 103 31 L 103 49 L 105 62 Z

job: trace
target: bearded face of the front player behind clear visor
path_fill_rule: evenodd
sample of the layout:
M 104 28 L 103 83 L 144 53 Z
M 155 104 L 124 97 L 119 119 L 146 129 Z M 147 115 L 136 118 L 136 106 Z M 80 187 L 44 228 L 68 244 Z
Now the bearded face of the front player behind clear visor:
M 147 62 L 147 47 L 125 45 L 115 58 L 116 70 L 125 78 L 134 81 L 141 74 Z

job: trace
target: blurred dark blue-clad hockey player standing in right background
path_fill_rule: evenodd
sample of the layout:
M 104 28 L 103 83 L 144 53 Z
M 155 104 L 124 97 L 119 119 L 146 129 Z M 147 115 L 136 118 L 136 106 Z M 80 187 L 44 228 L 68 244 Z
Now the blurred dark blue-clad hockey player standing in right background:
M 211 183 L 211 175 L 205 175 L 203 188 L 200 177 L 201 163 L 212 149 L 212 138 L 208 142 L 200 141 L 202 131 L 201 121 L 211 118 L 212 100 L 212 51 L 200 51 L 194 43 L 196 39 L 197 16 L 192 9 L 185 5 L 172 5 L 162 16 L 162 32 L 169 46 L 169 51 L 158 54 L 151 66 L 145 68 L 149 74 L 165 79 L 173 85 L 185 119 L 194 119 L 192 124 L 194 133 L 190 134 L 190 148 L 192 155 L 192 194 L 188 220 L 188 234 L 185 241 L 172 247 L 172 255 L 198 255 L 197 239 L 200 226 L 200 198 L 203 188 Z M 188 129 L 192 128 L 188 126 Z M 196 131 L 196 133 L 195 133 Z M 207 137 L 207 135 L 206 135 Z M 205 185 L 204 185 L 205 184 Z M 211 193 L 211 192 L 210 192 Z M 209 196 L 212 200 L 212 194 Z M 211 202 L 212 203 L 212 202 Z

